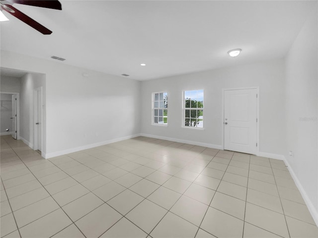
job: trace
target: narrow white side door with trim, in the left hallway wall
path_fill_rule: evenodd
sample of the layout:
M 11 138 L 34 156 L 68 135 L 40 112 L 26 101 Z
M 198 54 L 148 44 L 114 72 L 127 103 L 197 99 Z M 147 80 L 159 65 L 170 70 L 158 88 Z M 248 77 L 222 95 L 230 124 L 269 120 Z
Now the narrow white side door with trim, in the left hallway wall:
M 42 151 L 42 87 L 34 89 L 34 144 L 33 149 Z

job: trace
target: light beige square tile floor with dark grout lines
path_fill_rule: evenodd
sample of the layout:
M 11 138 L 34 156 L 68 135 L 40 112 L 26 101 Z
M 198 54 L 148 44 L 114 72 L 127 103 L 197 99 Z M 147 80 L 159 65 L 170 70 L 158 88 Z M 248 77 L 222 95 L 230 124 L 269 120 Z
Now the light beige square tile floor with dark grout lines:
M 317 238 L 283 161 L 137 137 L 45 160 L 1 136 L 1 238 Z

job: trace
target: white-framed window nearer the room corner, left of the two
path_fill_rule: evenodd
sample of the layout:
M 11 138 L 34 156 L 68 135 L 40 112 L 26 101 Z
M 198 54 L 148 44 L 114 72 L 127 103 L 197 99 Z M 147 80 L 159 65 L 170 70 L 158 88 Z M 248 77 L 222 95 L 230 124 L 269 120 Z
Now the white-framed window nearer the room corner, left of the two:
M 153 93 L 153 124 L 168 124 L 168 93 Z

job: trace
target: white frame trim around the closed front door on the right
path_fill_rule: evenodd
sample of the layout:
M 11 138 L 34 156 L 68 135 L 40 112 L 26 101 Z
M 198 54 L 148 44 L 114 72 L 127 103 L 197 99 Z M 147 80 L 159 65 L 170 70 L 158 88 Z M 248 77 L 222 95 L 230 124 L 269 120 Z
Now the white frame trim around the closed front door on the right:
M 222 125 L 222 150 L 224 150 L 224 97 L 225 97 L 225 91 L 230 91 L 230 90 L 244 90 L 244 89 L 256 89 L 257 92 L 257 98 L 256 98 L 256 117 L 257 117 L 257 123 L 256 123 L 256 143 L 257 143 L 257 147 L 256 147 L 256 155 L 259 155 L 259 87 L 243 87 L 243 88 L 223 88 L 222 89 L 222 121 L 221 121 L 221 125 Z

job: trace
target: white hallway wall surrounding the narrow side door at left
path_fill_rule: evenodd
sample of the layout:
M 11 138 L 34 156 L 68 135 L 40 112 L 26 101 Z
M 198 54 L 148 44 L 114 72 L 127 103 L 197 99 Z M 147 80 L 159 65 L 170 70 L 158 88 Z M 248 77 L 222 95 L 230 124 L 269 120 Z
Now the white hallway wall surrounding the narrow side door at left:
M 43 92 L 43 140 L 42 150 L 45 153 L 46 149 L 46 83 L 44 74 L 26 73 L 21 77 L 20 84 L 20 137 L 22 137 L 28 145 L 34 145 L 34 89 L 42 87 Z

